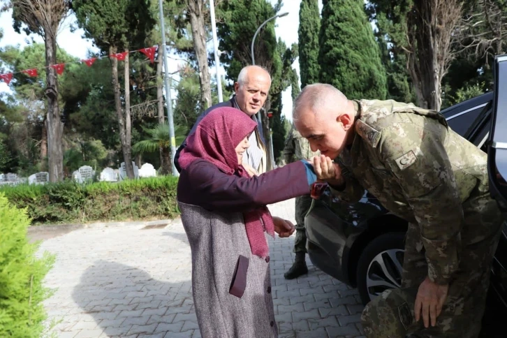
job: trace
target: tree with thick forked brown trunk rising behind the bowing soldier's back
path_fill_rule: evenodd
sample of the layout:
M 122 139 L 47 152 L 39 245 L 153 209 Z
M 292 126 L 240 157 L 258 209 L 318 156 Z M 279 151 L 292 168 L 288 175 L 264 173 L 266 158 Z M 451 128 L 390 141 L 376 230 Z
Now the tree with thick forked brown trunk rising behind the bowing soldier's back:
M 440 110 L 441 85 L 455 57 L 453 44 L 462 0 L 372 0 L 369 13 L 379 19 L 388 42 L 406 55 L 418 105 Z

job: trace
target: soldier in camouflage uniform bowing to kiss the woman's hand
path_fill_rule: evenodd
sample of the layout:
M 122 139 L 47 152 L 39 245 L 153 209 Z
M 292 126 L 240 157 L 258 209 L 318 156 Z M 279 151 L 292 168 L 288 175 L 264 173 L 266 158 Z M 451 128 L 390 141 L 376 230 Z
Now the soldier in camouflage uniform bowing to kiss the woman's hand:
M 409 222 L 402 288 L 367 304 L 367 337 L 478 337 L 503 221 L 486 154 L 437 112 L 349 101 L 325 84 L 304 88 L 294 121 L 327 156 L 314 168 L 336 196 L 354 202 L 367 189 Z

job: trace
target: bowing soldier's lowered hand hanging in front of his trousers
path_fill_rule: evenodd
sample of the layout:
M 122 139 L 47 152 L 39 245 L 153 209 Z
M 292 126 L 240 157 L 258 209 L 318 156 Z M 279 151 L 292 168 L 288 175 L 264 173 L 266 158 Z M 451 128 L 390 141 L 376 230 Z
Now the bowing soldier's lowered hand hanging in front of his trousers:
M 416 304 L 413 312 L 416 315 L 416 321 L 419 321 L 421 314 L 425 328 L 436 325 L 436 318 L 440 316 L 443 303 L 446 302 L 449 285 L 439 285 L 431 281 L 429 277 L 420 284 L 416 297 Z

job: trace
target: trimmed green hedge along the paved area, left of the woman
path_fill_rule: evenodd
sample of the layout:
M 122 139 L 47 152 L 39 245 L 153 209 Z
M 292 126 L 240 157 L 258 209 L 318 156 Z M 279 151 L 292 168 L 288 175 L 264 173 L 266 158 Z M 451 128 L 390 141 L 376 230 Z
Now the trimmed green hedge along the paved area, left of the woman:
M 177 177 L 80 184 L 73 181 L 2 187 L 10 203 L 26 207 L 32 224 L 174 218 Z

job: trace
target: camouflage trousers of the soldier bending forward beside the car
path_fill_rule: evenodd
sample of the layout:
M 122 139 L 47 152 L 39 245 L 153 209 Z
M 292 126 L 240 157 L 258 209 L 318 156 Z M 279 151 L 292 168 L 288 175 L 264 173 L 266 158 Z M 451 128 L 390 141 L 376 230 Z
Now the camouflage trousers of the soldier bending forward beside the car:
M 427 263 L 418 225 L 406 233 L 402 288 L 383 292 L 367 304 L 362 325 L 368 338 L 476 338 L 485 310 L 490 268 L 503 219 L 489 196 L 469 198 L 464 205 L 460 265 L 450 281 L 446 303 L 436 325 L 416 322 L 414 304 L 418 288 L 427 277 Z

